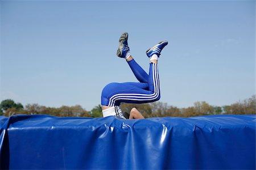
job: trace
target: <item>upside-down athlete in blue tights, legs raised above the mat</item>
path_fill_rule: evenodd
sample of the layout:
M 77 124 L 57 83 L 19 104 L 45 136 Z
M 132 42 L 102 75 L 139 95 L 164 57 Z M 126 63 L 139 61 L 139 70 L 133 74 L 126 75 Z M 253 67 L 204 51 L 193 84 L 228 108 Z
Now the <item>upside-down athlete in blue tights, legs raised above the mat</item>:
M 101 95 L 102 113 L 105 116 L 119 116 L 119 105 L 124 103 L 149 103 L 160 99 L 158 57 L 161 50 L 168 44 L 167 41 L 159 42 L 153 48 L 147 50 L 146 54 L 150 58 L 149 75 L 131 57 L 127 44 L 127 33 L 119 39 L 117 56 L 125 58 L 131 70 L 141 83 L 110 83 L 104 87 Z M 114 109 L 115 112 L 108 111 Z M 120 109 L 121 111 L 121 109 Z M 135 114 L 133 113 L 133 117 Z M 139 115 L 139 114 L 138 114 Z M 122 117 L 122 115 L 120 116 Z M 143 116 L 142 116 L 143 117 Z

